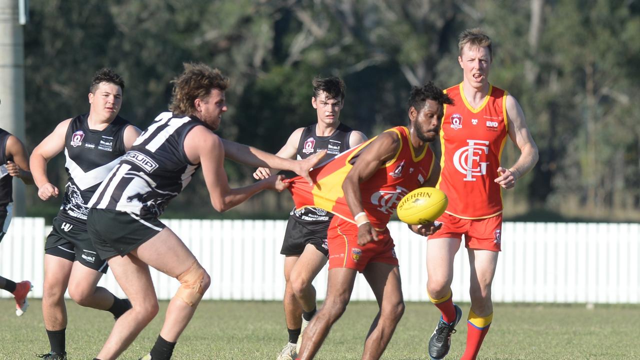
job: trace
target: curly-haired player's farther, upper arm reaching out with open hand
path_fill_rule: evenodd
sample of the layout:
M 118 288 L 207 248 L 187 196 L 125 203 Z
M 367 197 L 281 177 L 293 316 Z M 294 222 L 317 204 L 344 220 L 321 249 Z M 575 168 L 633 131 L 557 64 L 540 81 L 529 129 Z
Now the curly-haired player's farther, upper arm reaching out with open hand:
M 314 167 L 326 154 L 326 151 L 316 152 L 312 156 L 309 156 L 305 160 L 291 160 L 284 159 L 269 152 L 264 152 L 252 146 L 243 145 L 237 142 L 230 142 L 225 139 L 220 139 L 224 147 L 225 157 L 239 163 L 254 167 L 269 167 L 278 168 L 280 170 L 291 170 L 296 174 L 307 179 L 309 184 L 312 184 L 311 177 L 309 177 L 309 170 Z

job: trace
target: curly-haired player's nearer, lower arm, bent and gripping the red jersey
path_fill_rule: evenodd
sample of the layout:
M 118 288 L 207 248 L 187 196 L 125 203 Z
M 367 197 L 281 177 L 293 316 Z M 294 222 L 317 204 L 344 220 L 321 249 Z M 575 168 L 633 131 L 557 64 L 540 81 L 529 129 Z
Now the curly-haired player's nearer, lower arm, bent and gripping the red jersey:
M 284 176 L 272 176 L 241 188 L 230 188 L 224 168 L 224 148 L 220 137 L 204 126 L 196 126 L 184 140 L 184 151 L 191 163 L 200 163 L 212 206 L 227 211 L 241 204 L 262 190 L 278 192 L 289 186 L 282 182 Z

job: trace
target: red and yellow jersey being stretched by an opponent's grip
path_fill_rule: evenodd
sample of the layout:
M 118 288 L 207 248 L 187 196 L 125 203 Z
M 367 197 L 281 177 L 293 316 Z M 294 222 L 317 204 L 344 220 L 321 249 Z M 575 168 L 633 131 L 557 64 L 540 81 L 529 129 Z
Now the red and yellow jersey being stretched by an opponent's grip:
M 408 192 L 419 188 L 428 179 L 433 168 L 433 151 L 427 145 L 421 154 L 414 154 L 409 129 L 397 126 L 387 131 L 393 131 L 400 138 L 396 156 L 360 184 L 362 206 L 375 229 L 387 227 L 398 202 Z M 342 183 L 358 154 L 374 139 L 342 152 L 328 163 L 314 168 L 309 173 L 314 181 L 312 186 L 300 176 L 291 179 L 289 191 L 293 195 L 296 209 L 307 206 L 322 208 L 355 224 L 342 191 Z

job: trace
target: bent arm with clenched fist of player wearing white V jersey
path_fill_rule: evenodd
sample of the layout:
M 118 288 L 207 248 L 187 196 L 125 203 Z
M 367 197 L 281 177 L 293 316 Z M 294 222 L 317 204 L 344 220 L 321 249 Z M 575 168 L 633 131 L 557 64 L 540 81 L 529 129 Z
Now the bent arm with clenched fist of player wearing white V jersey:
M 56 186 L 49 183 L 49 177 L 47 177 L 47 162 L 65 149 L 65 136 L 67 135 L 67 128 L 70 122 L 71 119 L 67 119 L 58 124 L 56 129 L 44 138 L 44 140 L 33 149 L 33 153 L 31 153 L 29 167 L 31 168 L 33 181 L 35 181 L 36 186 L 38 186 L 38 197 L 42 200 L 58 197 L 58 193 L 60 193 Z

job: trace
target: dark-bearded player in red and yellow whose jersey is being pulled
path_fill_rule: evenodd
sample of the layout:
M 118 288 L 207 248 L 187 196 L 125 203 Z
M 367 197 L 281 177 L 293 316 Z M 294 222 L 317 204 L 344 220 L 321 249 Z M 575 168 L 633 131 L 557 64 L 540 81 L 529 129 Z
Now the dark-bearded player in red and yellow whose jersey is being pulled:
M 444 104 L 451 99 L 433 83 L 412 89 L 408 127 L 394 127 L 369 142 L 340 154 L 309 174 L 314 185 L 296 178 L 289 190 L 296 208 L 315 206 L 331 211 L 328 229 L 329 275 L 324 305 L 303 335 L 299 359 L 313 359 L 333 323 L 349 303 L 357 272 L 369 282 L 380 312 L 364 345 L 362 359 L 380 359 L 404 312 L 398 260 L 387 223 L 406 193 L 429 184 L 433 151 Z M 433 176 L 430 176 L 433 172 Z M 433 224 L 413 225 L 426 236 Z

